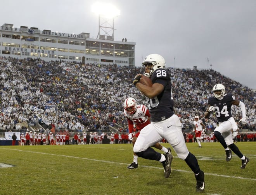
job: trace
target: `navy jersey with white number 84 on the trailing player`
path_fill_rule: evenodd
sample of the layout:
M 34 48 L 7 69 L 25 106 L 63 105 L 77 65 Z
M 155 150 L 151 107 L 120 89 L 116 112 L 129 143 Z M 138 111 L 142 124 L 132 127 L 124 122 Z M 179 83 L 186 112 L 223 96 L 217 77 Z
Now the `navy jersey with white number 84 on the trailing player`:
M 232 101 L 235 100 L 235 96 L 232 94 L 226 94 L 223 99 L 216 99 L 214 97 L 208 98 L 208 104 L 214 106 L 215 115 L 218 122 L 227 121 L 231 115 Z

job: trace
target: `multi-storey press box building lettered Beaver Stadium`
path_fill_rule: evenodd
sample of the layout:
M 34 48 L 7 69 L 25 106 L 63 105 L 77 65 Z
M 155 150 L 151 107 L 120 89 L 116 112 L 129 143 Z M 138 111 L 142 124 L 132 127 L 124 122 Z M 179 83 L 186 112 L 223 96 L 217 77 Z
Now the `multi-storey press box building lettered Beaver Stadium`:
M 93 39 L 85 32 L 69 34 L 3 24 L 0 26 L 0 56 L 134 66 L 135 43 L 114 41 L 109 36 Z

